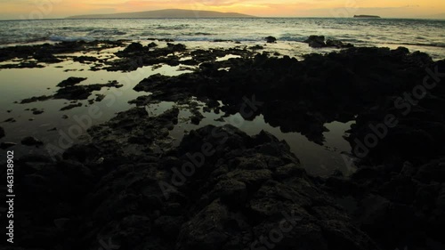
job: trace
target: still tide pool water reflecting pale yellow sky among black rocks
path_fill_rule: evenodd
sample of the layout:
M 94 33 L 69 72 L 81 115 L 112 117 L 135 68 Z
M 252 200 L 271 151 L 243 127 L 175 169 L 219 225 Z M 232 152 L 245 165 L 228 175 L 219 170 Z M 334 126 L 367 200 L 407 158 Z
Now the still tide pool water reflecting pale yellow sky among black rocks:
M 231 56 L 226 56 L 222 60 L 227 60 Z M 157 67 L 158 68 L 158 67 Z M 86 77 L 87 80 L 80 85 L 106 84 L 109 81 L 117 80 L 124 85 L 122 88 L 102 88 L 101 91 L 93 92 L 88 99 L 93 99 L 96 94 L 106 94 L 107 97 L 100 102 L 93 104 L 94 109 L 99 109 L 101 116 L 93 120 L 93 125 L 103 123 L 114 117 L 117 112 L 125 111 L 133 107 L 128 101 L 134 100 L 140 95 L 148 93 L 137 93 L 133 90 L 142 79 L 154 74 L 163 74 L 166 76 L 177 76 L 185 72 L 178 70 L 180 67 L 162 66 L 158 69 L 144 67 L 133 72 L 108 72 L 105 70 L 90 71 L 90 66 L 73 61 L 65 61 L 59 64 L 50 65 L 44 69 L 2 69 L 0 70 L 0 125 L 4 127 L 6 136 L 1 141 L 12 141 L 20 143 L 21 139 L 27 136 L 35 136 L 45 143 L 58 144 L 61 133 L 69 133 L 72 125 L 78 125 L 78 119 L 75 117 L 85 117 L 92 106 L 87 100 L 79 101 L 83 107 L 60 111 L 60 109 L 69 104 L 66 100 L 37 101 L 28 104 L 18 104 L 14 101 L 21 101 L 32 96 L 53 94 L 62 80 L 68 77 Z M 173 107 L 172 102 L 162 102 L 147 107 L 150 115 L 162 113 L 166 109 Z M 33 115 L 32 111 L 25 109 L 44 109 L 41 115 Z M 7 111 L 11 110 L 11 113 Z M 184 131 L 197 129 L 203 125 L 224 125 L 231 124 L 239 127 L 249 135 L 259 133 L 265 130 L 275 135 L 279 140 L 285 140 L 290 145 L 292 151 L 302 162 L 303 167 L 312 174 L 326 175 L 339 169 L 348 173 L 347 164 L 341 152 L 350 152 L 351 146 L 344 140 L 344 131 L 350 128 L 351 123 L 331 123 L 326 125 L 328 133 L 324 133 L 326 138 L 325 146 L 320 146 L 312 141 L 308 141 L 300 133 L 281 133 L 279 128 L 271 127 L 264 122 L 263 116 L 256 117 L 253 121 L 244 120 L 239 114 L 231 117 L 224 117 L 224 122 L 214 121 L 222 117 L 223 114 L 205 113 L 206 117 L 200 125 L 191 125 L 190 111 L 182 109 L 180 114 L 180 123 L 176 125 L 170 133 L 176 142 L 182 140 Z M 69 116 L 64 119 L 62 116 Z M 3 121 L 13 117 L 16 123 L 4 123 Z M 31 119 L 31 120 L 30 120 Z M 85 120 L 84 120 L 85 121 Z M 89 125 L 86 123 L 86 125 Z M 53 128 L 57 131 L 49 131 Z M 83 131 L 85 133 L 85 129 Z M 77 140 L 75 140 L 77 141 Z M 44 148 L 36 149 L 17 145 L 13 147 L 16 156 L 29 152 L 43 152 Z

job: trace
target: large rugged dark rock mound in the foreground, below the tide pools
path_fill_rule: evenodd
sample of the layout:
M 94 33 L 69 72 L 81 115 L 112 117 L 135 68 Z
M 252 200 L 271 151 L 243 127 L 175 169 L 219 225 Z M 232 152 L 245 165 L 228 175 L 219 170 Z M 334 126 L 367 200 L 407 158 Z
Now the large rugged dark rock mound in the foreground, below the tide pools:
M 93 127 L 91 142 L 55 162 L 21 158 L 17 214 L 28 219 L 17 227 L 39 233 L 19 242 L 46 249 L 95 249 L 101 242 L 119 249 L 247 249 L 267 238 L 278 248 L 378 249 L 269 133 L 249 137 L 231 125 L 209 125 L 158 151 L 155 144 L 168 143 L 158 126 L 177 116 L 177 109 L 158 117 L 131 109 Z M 134 141 L 139 130 L 146 137 Z M 31 204 L 32 211 L 25 208 Z

